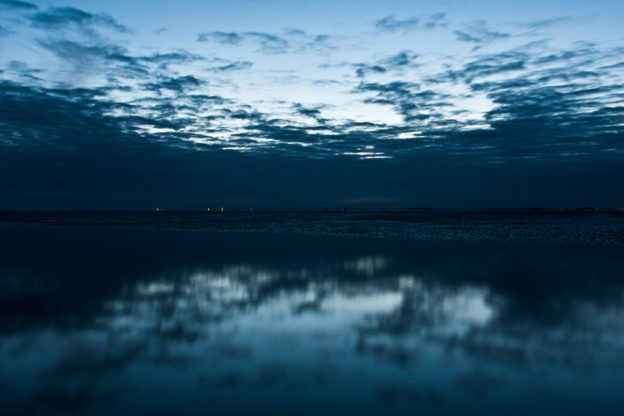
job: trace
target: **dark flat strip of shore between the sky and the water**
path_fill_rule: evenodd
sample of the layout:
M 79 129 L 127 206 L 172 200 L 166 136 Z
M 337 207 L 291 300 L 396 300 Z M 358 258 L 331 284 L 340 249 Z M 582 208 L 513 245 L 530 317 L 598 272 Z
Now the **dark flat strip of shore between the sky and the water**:
M 624 244 L 624 215 L 513 212 L 47 212 L 0 213 L 0 224 L 258 232 L 419 241 Z

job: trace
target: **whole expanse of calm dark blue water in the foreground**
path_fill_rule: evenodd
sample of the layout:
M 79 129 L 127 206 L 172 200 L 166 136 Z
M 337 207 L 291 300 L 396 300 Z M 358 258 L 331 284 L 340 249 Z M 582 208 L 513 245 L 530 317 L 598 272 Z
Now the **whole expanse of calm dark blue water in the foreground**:
M 0 414 L 623 414 L 622 247 L 0 227 Z

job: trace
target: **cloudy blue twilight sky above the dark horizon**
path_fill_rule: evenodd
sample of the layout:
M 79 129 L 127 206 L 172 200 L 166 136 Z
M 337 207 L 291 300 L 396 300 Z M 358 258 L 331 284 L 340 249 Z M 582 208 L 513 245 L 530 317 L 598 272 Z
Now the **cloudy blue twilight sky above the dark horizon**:
M 622 16 L 0 0 L 0 209 L 622 206 Z

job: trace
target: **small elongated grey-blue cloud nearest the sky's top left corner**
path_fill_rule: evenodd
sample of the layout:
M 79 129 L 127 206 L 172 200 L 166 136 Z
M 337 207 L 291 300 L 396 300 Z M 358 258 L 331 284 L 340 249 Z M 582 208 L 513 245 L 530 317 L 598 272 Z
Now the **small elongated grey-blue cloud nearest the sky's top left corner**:
M 94 27 L 106 27 L 118 32 L 128 32 L 128 28 L 104 13 L 93 14 L 73 7 L 53 7 L 32 16 L 34 26 L 54 30 L 74 26 L 91 30 Z

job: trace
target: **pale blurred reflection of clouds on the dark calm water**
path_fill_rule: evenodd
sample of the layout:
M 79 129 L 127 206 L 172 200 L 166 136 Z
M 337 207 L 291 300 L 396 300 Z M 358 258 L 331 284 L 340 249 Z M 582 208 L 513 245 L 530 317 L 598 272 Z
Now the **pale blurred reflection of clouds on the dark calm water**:
M 233 396 L 224 392 L 253 401 L 262 390 L 275 400 L 284 391 L 339 394 L 369 411 L 394 403 L 452 412 L 475 398 L 502 410 L 518 391 L 567 397 L 592 375 L 600 377 L 584 391 L 599 397 L 624 367 L 622 301 L 563 300 L 566 319 L 540 325 L 510 315 L 511 298 L 486 282 L 419 277 L 392 263 L 365 256 L 158 274 L 105 301 L 86 327 L 4 336 L 3 373 L 16 402 L 61 413 L 123 408 L 165 386 L 184 389 L 197 408 L 226 406 Z

